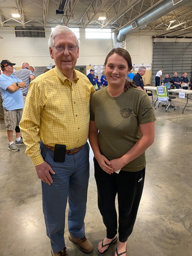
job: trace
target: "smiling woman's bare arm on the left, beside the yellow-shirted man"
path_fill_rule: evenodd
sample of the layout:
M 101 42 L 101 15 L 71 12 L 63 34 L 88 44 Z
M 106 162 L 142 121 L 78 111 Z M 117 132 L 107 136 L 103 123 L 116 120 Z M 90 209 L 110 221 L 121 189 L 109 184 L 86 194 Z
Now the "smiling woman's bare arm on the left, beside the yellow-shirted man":
M 98 144 L 98 129 L 96 128 L 95 121 L 89 122 L 89 142 L 92 147 L 94 157 L 96 158 L 99 166 L 106 172 L 106 173 L 113 173 L 113 169 L 109 167 L 111 164 L 110 161 L 100 153 L 99 144 Z

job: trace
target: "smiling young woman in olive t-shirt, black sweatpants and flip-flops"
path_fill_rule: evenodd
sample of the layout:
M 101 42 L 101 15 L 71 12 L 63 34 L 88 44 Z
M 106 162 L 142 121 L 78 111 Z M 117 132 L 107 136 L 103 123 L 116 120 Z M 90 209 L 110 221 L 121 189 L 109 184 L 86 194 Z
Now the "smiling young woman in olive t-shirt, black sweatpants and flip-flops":
M 115 256 L 125 256 L 144 185 L 145 150 L 154 141 L 156 118 L 149 96 L 126 80 L 133 68 L 129 53 L 123 48 L 112 49 L 104 66 L 108 86 L 92 94 L 89 132 L 98 207 L 107 228 L 97 253 L 105 254 L 118 240 L 117 194 L 119 240 Z

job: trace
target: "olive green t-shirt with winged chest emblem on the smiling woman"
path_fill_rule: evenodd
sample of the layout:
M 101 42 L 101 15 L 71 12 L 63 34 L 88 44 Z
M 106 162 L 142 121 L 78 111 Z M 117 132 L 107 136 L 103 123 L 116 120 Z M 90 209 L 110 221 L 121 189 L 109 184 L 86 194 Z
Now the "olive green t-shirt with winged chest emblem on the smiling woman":
M 141 138 L 139 124 L 156 120 L 149 96 L 142 90 L 130 88 L 112 97 L 107 87 L 91 95 L 90 120 L 99 130 L 101 153 L 108 159 L 122 157 Z M 140 171 L 146 165 L 145 153 L 126 164 L 124 171 Z

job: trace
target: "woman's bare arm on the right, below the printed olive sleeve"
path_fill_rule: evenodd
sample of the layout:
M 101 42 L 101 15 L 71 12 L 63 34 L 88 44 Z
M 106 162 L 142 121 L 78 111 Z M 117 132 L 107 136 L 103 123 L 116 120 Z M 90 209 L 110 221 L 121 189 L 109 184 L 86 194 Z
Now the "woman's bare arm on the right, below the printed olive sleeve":
M 110 166 L 114 171 L 123 168 L 127 163 L 139 157 L 151 144 L 153 144 L 155 137 L 154 121 L 146 124 L 140 124 L 139 131 L 141 138 L 135 143 L 135 145 L 122 157 L 110 161 Z

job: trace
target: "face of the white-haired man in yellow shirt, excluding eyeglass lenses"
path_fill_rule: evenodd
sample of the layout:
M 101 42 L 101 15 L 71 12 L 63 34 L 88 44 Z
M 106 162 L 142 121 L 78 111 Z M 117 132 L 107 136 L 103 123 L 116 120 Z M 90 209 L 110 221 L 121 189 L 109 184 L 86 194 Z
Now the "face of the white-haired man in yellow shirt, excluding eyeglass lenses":
M 58 45 L 64 45 L 64 46 L 75 45 L 76 46 L 76 40 L 75 40 L 74 34 L 71 32 L 68 32 L 66 34 L 56 35 L 54 37 L 54 46 L 58 46 Z M 65 51 L 63 53 L 57 52 L 55 47 L 53 47 L 53 49 L 50 48 L 49 51 L 50 51 L 51 58 L 54 59 L 58 70 L 62 74 L 65 75 L 73 72 L 77 62 L 77 58 L 79 57 L 78 48 L 76 48 L 74 53 L 69 52 L 67 47 L 65 48 Z

